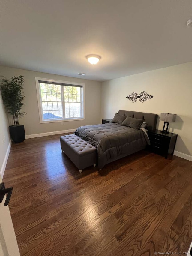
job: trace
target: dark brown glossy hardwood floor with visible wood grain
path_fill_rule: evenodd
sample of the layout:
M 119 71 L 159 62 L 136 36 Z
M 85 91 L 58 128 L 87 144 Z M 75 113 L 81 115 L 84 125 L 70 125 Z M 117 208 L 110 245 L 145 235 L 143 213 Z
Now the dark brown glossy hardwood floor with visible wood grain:
M 155 255 L 192 240 L 192 162 L 142 151 L 79 170 L 60 135 L 13 144 L 3 181 L 21 255 Z

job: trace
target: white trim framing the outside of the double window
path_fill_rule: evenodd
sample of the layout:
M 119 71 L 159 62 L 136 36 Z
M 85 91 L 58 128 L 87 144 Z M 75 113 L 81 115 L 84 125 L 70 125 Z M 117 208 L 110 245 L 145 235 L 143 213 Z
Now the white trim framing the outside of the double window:
M 71 84 L 71 85 L 80 85 L 82 86 L 82 99 L 83 99 L 83 118 L 80 117 L 73 117 L 70 119 L 49 119 L 49 120 L 43 120 L 43 109 L 42 109 L 42 104 L 41 104 L 41 95 L 40 95 L 40 86 L 39 86 L 39 80 L 40 81 L 47 81 L 47 82 L 53 82 L 53 83 L 63 83 L 63 84 Z M 84 83 L 75 83 L 75 82 L 68 82 L 68 81 L 61 81 L 61 80 L 53 80 L 53 79 L 47 79 L 47 78 L 42 78 L 42 77 L 35 77 L 35 82 L 36 82 L 36 90 L 37 90 L 37 99 L 38 99 L 38 109 L 39 109 L 39 119 L 40 123 L 55 123 L 55 122 L 68 122 L 68 121 L 78 121 L 78 120 L 85 120 L 85 84 Z

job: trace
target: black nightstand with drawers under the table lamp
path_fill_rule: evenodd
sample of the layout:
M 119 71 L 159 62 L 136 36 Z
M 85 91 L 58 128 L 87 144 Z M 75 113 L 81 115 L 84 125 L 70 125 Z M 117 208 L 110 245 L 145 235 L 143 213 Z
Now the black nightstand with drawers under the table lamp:
M 162 133 L 160 130 L 148 131 L 148 136 L 151 142 L 150 149 L 159 155 L 164 155 L 167 159 L 168 154 L 172 154 L 177 141 L 176 133 Z

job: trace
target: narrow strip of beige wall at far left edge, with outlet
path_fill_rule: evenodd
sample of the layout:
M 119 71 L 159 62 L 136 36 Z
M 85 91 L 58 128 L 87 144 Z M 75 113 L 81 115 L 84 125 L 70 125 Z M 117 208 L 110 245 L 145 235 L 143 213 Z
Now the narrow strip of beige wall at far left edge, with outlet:
M 3 142 L 4 140 L 4 142 Z M 3 161 L 7 152 L 10 142 L 7 116 L 4 111 L 3 100 L 0 96 L 0 175 L 2 170 Z

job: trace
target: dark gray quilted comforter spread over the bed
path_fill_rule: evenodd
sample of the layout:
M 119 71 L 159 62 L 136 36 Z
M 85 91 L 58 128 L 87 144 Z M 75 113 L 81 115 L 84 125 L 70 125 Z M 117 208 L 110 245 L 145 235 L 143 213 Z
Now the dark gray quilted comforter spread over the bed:
M 97 148 L 100 169 L 107 163 L 145 148 L 149 143 L 142 129 L 137 131 L 117 123 L 81 126 L 74 134 Z

